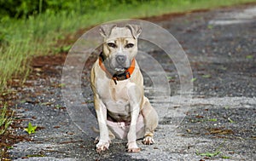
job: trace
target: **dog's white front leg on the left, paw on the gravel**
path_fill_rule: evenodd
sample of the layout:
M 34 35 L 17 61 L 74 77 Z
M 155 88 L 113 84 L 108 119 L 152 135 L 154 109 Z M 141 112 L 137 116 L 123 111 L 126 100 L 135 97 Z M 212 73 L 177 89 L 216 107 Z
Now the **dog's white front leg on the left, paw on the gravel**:
M 100 129 L 100 138 L 99 142 L 96 144 L 96 151 L 102 152 L 108 149 L 110 143 L 107 126 L 107 108 L 97 95 L 94 98 L 94 103 Z

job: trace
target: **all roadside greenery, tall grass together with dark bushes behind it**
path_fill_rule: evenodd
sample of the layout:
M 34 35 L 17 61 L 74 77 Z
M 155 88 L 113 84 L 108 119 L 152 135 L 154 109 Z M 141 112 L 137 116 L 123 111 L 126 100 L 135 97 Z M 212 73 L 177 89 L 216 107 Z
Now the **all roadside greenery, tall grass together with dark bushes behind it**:
M 109 20 L 248 2 L 255 0 L 0 0 L 0 91 L 13 77 L 25 80 L 33 56 L 68 50 L 72 43 L 58 40 L 79 29 Z

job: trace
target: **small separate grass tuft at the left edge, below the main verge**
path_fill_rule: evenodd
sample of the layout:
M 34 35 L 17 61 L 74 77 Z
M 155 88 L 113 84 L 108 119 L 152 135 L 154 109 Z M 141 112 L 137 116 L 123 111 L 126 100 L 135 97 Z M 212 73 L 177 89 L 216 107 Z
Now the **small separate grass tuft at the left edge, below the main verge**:
M 0 135 L 3 135 L 4 132 L 9 128 L 9 125 L 13 122 L 14 112 L 9 114 L 7 110 L 7 105 L 0 107 Z

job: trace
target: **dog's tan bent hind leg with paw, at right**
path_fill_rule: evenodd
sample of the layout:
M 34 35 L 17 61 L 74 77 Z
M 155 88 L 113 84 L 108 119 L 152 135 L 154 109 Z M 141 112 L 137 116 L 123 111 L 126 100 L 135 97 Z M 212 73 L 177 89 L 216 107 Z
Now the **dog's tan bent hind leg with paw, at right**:
M 145 135 L 143 139 L 143 144 L 151 145 L 154 144 L 154 129 L 158 125 L 158 115 L 154 108 L 150 105 L 148 98 L 144 96 L 144 104 L 142 109 L 142 114 L 145 124 Z

